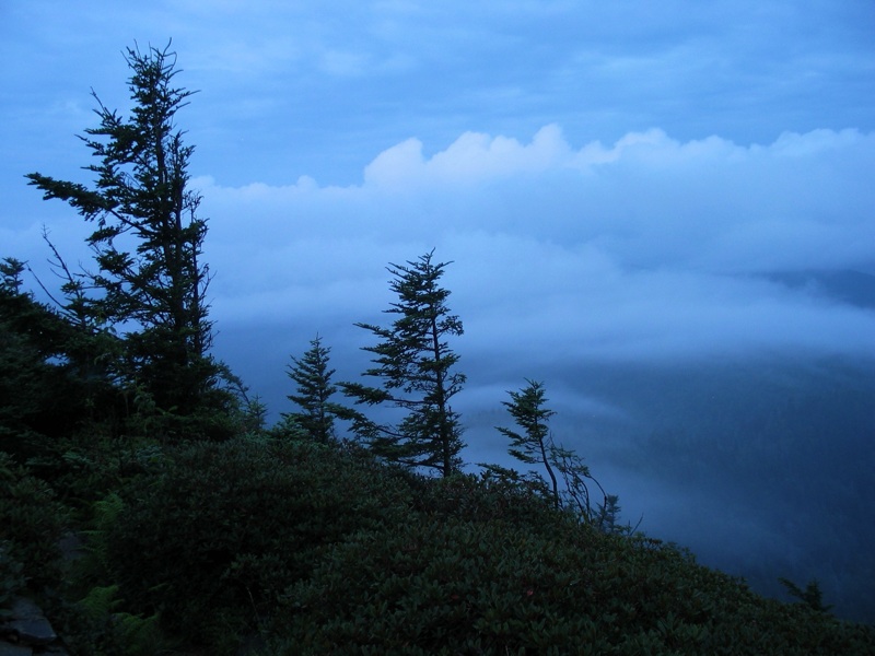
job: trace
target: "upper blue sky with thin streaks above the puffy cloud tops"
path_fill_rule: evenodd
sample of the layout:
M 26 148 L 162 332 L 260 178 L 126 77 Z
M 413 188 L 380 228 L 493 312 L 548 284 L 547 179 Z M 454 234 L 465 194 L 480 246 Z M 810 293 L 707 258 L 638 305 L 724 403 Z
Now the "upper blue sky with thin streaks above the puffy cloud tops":
M 172 36 L 183 81 L 202 92 L 188 116 L 200 165 L 228 185 L 354 184 L 409 137 L 433 153 L 465 131 L 527 140 L 558 124 L 575 145 L 654 127 L 747 145 L 872 121 L 866 1 L 36 0 L 0 11 L 14 62 L 4 108 L 58 145 L 44 128 L 81 130 L 89 87 L 121 105 L 125 46 Z

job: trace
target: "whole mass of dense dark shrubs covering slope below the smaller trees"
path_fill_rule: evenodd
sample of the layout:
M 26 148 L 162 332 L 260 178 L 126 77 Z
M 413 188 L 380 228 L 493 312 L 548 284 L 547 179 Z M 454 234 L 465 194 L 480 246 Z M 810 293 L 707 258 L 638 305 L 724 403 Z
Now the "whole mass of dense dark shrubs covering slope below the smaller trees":
M 217 654 L 256 631 L 271 655 L 875 653 L 868 628 L 599 534 L 524 487 L 337 445 L 188 446 L 116 503 L 106 558 L 126 609 Z

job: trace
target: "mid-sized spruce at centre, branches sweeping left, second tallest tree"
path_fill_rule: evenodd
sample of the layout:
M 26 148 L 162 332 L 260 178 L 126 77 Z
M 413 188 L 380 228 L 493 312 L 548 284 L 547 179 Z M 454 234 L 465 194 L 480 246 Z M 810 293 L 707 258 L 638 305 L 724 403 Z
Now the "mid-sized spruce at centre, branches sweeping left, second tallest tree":
M 446 339 L 460 336 L 463 328 L 446 305 L 450 291 L 439 284 L 450 262 L 434 262 L 433 255 L 432 250 L 406 266 L 389 265 L 389 286 L 398 296 L 384 311 L 396 317 L 389 327 L 355 324 L 377 338 L 376 345 L 364 347 L 373 353 L 375 365 L 364 375 L 380 378 L 380 386 L 341 383 L 340 387 L 357 405 L 402 412 L 394 423 L 374 421 L 354 410 L 347 413 L 353 432 L 374 453 L 450 476 L 458 470 L 458 454 L 465 446 L 459 415 L 451 406 L 465 375 L 455 371 L 459 358 Z

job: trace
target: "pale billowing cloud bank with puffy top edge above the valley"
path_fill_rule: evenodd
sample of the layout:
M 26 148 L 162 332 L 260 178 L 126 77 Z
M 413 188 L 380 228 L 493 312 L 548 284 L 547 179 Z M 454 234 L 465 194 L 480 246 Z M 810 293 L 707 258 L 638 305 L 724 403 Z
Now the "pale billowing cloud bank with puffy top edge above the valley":
M 871 308 L 769 278 L 875 273 L 873 167 L 875 134 L 854 130 L 751 147 L 651 130 L 575 149 L 547 126 L 530 143 L 465 133 L 432 155 L 411 139 L 358 186 L 196 185 L 220 327 L 346 323 L 360 339 L 351 324 L 392 300 L 385 265 L 436 247 L 454 261 L 459 350 L 536 375 L 525 365 L 575 358 L 875 355 Z

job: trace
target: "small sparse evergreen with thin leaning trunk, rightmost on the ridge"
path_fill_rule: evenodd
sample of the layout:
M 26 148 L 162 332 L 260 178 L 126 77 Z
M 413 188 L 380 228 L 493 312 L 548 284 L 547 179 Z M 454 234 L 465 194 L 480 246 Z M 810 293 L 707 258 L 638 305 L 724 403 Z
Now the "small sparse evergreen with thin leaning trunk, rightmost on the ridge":
M 526 382 L 528 385 L 522 390 L 508 393 L 511 396 L 510 401 L 502 401 L 516 425 L 523 429 L 523 433 L 503 427 L 499 427 L 498 431 L 511 441 L 508 453 L 514 458 L 526 465 L 538 462 L 544 465 L 550 477 L 553 505 L 558 508 L 560 505 L 559 481 L 550 465 L 549 453 L 552 448 L 552 438 L 548 425 L 550 417 L 556 412 L 544 407 L 547 402 L 547 399 L 544 398 L 544 384 L 528 379 Z

